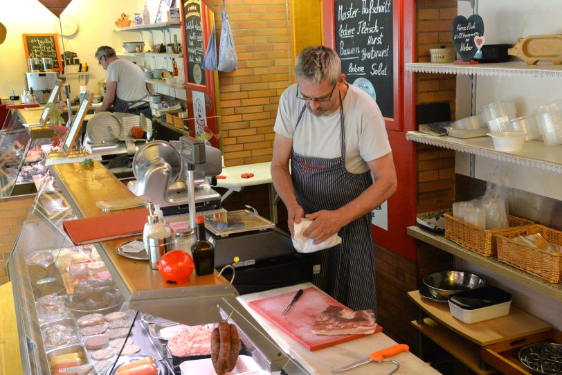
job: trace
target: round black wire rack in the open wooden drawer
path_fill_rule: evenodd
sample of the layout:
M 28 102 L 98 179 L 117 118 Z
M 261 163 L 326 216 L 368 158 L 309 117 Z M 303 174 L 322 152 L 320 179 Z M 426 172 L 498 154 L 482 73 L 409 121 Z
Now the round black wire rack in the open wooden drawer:
M 562 374 L 562 344 L 536 342 L 522 347 L 518 356 L 525 368 L 538 374 Z

